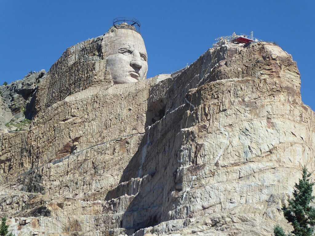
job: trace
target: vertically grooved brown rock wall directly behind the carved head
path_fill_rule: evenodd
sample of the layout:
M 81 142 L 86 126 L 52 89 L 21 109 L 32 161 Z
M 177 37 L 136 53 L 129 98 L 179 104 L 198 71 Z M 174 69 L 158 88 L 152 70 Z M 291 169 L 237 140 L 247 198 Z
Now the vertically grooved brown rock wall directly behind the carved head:
M 102 53 L 101 42 L 100 36 L 67 48 L 51 66 L 48 77 L 39 87 L 38 111 L 50 107 L 68 95 L 88 88 L 96 77 L 105 80 L 106 60 Z

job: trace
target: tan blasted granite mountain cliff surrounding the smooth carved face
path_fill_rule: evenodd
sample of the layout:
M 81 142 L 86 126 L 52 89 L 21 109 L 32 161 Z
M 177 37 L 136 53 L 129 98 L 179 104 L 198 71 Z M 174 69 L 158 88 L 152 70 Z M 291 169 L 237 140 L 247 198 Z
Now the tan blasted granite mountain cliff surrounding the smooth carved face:
M 16 235 L 290 229 L 281 205 L 301 166 L 315 169 L 315 114 L 291 55 L 226 44 L 179 73 L 113 85 L 101 45 L 67 49 L 36 85 L 30 125 L 0 136 L 1 216 Z

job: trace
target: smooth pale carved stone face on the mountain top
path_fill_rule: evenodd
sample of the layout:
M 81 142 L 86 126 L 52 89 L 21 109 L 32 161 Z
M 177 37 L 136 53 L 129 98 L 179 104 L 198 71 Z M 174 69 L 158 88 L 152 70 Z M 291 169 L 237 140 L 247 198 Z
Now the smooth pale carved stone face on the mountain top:
M 146 79 L 148 70 L 146 47 L 139 33 L 116 29 L 104 35 L 107 52 L 106 70 L 114 84 L 132 83 Z

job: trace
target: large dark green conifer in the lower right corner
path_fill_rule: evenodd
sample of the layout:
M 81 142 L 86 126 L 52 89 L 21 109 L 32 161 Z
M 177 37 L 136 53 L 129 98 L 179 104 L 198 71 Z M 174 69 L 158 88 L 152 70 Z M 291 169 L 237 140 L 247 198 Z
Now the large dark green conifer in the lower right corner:
M 310 206 L 310 203 L 315 199 L 315 196 L 312 195 L 315 183 L 311 181 L 310 176 L 311 173 L 304 167 L 302 178 L 299 179 L 299 183 L 294 185 L 293 198 L 288 199 L 288 206 L 282 207 L 284 217 L 294 228 L 291 233 L 295 236 L 313 235 L 315 208 Z M 273 232 L 275 236 L 286 236 L 279 226 L 276 226 Z

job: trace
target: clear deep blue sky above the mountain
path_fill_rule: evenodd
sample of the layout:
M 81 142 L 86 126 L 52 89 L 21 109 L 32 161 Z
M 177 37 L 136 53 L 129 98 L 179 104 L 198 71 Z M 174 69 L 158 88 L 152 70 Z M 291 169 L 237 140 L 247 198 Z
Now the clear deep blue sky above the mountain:
M 293 56 L 302 100 L 315 110 L 315 1 L 0 0 L 0 84 L 49 70 L 63 51 L 104 34 L 116 17 L 134 17 L 148 53 L 148 77 L 196 60 L 216 37 L 254 31 Z

